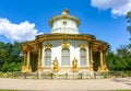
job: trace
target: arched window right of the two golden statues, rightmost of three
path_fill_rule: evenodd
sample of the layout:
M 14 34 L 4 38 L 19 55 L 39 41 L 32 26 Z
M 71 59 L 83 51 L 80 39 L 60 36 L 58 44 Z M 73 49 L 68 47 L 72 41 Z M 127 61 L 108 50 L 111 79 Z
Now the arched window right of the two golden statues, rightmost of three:
M 81 48 L 80 49 L 80 66 L 85 66 L 86 61 L 86 49 Z

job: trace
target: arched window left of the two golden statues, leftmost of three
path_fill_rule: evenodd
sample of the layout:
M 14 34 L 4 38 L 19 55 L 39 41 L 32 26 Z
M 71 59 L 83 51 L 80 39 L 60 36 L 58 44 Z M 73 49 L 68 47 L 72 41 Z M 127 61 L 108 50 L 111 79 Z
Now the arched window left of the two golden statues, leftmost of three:
M 51 50 L 49 48 L 45 50 L 45 60 L 46 66 L 51 66 Z

